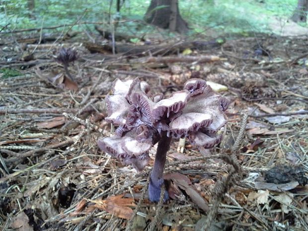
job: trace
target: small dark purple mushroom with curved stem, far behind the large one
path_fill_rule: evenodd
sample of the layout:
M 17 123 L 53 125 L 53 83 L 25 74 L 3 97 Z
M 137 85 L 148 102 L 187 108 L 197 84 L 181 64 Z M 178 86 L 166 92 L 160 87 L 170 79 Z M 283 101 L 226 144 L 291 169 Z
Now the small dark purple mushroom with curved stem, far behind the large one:
M 59 51 L 58 56 L 56 57 L 56 61 L 58 63 L 61 63 L 64 67 L 64 71 L 67 74 L 67 76 L 75 81 L 75 78 L 71 75 L 69 72 L 69 64 L 77 60 L 77 51 L 72 48 L 61 48 Z

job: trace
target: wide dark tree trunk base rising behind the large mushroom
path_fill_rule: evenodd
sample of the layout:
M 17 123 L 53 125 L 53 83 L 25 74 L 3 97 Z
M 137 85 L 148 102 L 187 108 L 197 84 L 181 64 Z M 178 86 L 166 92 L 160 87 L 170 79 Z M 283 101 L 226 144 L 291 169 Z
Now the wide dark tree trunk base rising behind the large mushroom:
M 151 0 L 151 4 L 145 15 L 146 22 L 170 29 L 180 34 L 188 32 L 187 23 L 180 15 L 178 0 Z

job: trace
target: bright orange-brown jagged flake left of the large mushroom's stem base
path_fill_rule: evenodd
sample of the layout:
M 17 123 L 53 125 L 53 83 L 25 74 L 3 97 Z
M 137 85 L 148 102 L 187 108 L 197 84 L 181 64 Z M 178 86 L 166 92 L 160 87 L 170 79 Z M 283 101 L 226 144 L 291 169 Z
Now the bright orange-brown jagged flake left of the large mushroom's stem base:
M 105 210 L 114 216 L 122 219 L 131 219 L 134 211 L 129 206 L 136 206 L 133 198 L 123 198 L 123 195 L 108 197 L 106 200 L 100 198 L 92 201 L 95 203 L 94 207 Z

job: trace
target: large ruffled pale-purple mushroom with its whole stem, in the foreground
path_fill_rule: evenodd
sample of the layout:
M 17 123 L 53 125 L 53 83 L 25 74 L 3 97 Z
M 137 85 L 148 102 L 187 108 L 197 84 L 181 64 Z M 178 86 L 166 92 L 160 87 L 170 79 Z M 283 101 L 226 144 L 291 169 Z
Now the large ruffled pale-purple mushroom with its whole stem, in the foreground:
M 212 148 L 221 142 L 217 132 L 226 124 L 229 101 L 212 90 L 206 81 L 192 78 L 184 89 L 163 99 L 151 95 L 150 86 L 138 78 L 116 79 L 113 95 L 106 97 L 106 121 L 118 128 L 112 137 L 100 138 L 104 152 L 142 170 L 149 162 L 149 150 L 158 142 L 149 184 L 149 199 L 159 201 L 163 169 L 172 138 L 187 138 L 192 145 Z M 165 200 L 168 194 L 165 192 Z

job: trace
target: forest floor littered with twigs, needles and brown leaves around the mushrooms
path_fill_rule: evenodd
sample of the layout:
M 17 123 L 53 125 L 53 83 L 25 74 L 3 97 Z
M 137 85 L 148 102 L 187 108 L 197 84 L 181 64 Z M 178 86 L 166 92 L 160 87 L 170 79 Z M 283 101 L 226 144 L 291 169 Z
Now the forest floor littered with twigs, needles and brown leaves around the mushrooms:
M 115 55 L 103 39 L 95 47 L 85 35 L 31 36 L 0 40 L 1 231 L 308 230 L 308 36 L 198 38 L 187 48 L 150 38 Z M 75 81 L 55 61 L 62 46 L 78 52 Z M 164 95 L 191 77 L 228 87 L 219 88 L 231 100 L 219 147 L 171 144 L 165 173 L 178 173 L 177 200 L 147 199 L 155 147 L 142 172 L 97 147 L 113 131 L 104 98 L 117 77 L 140 77 Z

